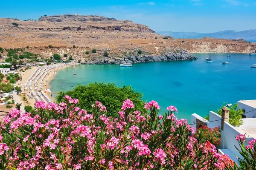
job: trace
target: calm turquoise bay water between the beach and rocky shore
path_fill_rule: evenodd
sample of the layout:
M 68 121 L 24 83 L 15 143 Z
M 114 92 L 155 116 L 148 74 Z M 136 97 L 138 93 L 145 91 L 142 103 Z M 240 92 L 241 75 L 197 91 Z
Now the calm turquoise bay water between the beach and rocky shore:
M 256 64 L 256 56 L 232 54 L 231 65 L 221 64 L 227 61 L 227 54 L 212 54 L 213 63 L 205 62 L 209 54 L 195 56 L 198 59 L 194 61 L 151 62 L 134 64 L 131 68 L 119 65 L 64 68 L 50 82 L 50 89 L 52 92 L 67 91 L 72 89 L 70 85 L 95 81 L 131 85 L 144 94 L 145 100 L 156 100 L 163 109 L 161 112 L 175 105 L 178 117 L 189 120 L 192 113 L 205 116 L 223 102 L 256 98 L 256 68 L 250 67 Z

